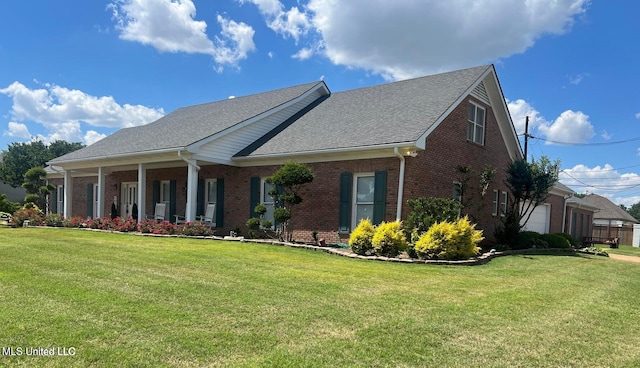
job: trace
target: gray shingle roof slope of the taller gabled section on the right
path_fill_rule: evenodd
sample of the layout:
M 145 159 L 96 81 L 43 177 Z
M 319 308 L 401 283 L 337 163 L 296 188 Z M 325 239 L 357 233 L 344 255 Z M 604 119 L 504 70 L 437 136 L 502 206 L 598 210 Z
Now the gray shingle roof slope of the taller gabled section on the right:
M 252 152 L 256 157 L 416 141 L 491 65 L 344 92 Z

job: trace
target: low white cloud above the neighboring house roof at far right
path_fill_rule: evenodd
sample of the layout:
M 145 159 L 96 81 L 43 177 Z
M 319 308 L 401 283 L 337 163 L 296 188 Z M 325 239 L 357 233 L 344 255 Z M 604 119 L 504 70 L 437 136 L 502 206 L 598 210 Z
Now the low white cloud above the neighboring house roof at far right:
M 560 172 L 560 180 L 577 193 L 596 193 L 616 204 L 631 206 L 640 202 L 635 193 L 640 188 L 640 175 L 620 173 L 610 164 L 588 167 L 576 165 Z

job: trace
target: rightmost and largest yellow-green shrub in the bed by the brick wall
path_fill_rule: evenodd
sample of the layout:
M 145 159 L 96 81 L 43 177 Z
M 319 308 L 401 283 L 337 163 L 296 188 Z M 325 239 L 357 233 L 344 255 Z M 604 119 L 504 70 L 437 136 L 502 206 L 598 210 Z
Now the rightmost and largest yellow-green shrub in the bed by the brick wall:
M 482 241 L 482 230 L 469 222 L 468 217 L 454 222 L 438 222 L 422 234 L 415 245 L 420 258 L 468 259 L 480 252 L 477 246 Z

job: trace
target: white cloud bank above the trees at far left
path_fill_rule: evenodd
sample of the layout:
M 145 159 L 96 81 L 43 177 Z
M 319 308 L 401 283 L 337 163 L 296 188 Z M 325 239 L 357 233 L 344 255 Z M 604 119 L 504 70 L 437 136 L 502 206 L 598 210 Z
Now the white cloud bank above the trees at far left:
M 43 141 L 62 139 L 69 142 L 85 142 L 95 135 L 82 132 L 81 123 L 102 128 L 124 128 L 144 125 L 161 118 L 163 109 L 153 109 L 142 105 L 118 104 L 111 96 L 96 97 L 79 90 L 68 89 L 53 84 L 43 88 L 30 89 L 20 82 L 13 82 L 0 89 L 0 94 L 13 99 L 11 116 L 15 120 L 9 124 L 10 131 L 28 132 L 25 123 L 42 125 L 49 133 L 39 137 Z M 24 129 L 18 125 L 24 126 Z M 17 137 L 17 136 L 16 136 Z

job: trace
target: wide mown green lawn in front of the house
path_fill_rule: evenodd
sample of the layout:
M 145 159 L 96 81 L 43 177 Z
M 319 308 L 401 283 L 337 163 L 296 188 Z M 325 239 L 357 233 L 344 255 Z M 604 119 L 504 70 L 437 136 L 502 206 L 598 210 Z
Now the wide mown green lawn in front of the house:
M 475 267 L 0 227 L 0 366 L 637 367 L 640 265 Z

